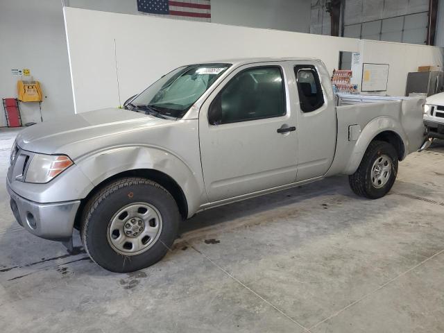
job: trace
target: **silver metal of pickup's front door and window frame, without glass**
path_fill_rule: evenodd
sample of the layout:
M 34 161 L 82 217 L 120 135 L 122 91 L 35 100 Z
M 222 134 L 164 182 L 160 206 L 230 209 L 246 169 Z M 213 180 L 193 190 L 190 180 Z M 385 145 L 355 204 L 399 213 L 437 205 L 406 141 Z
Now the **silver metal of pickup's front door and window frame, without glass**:
M 241 65 L 226 76 L 224 83 L 239 71 L 257 65 Z M 259 65 L 280 63 L 262 62 Z M 284 77 L 288 80 L 286 71 Z M 208 107 L 221 88 L 223 84 L 214 89 L 199 113 L 202 169 L 210 201 L 295 182 L 296 132 L 286 135 L 276 133 L 281 126 L 293 126 L 296 123 L 289 88 L 286 87 L 287 114 L 284 116 L 213 126 L 207 121 Z

